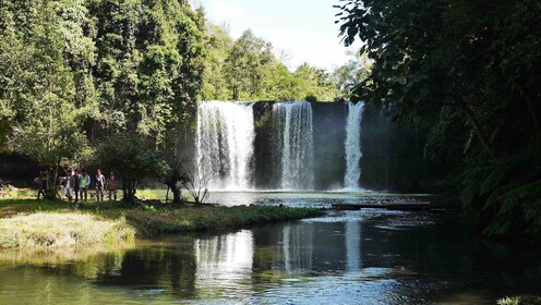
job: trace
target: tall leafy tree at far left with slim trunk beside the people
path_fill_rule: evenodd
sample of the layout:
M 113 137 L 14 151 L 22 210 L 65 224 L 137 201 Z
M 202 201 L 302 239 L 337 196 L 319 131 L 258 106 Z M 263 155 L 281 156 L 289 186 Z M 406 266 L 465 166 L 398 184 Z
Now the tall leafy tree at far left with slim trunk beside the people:
M 93 62 L 93 44 L 83 33 L 87 21 L 81 17 L 86 11 L 80 1 L 21 1 L 0 10 L 7 29 L 0 35 L 7 47 L 1 57 L 13 60 L 13 68 L 0 64 L 5 84 L 0 115 L 8 119 L 2 132 L 11 150 L 47 166 L 47 194 L 53 199 L 62 160 L 89 151 L 81 129 L 92 107 L 83 97 L 92 95 L 92 86 L 83 85 Z M 19 13 L 24 17 L 15 19 Z

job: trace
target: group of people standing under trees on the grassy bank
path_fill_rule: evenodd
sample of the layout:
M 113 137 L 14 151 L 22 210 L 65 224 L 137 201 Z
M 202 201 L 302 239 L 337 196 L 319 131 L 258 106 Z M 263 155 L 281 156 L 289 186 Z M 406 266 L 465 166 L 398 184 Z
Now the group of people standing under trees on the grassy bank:
M 86 172 L 85 169 L 69 169 L 67 171 L 68 176 L 62 182 L 62 186 L 64 187 L 64 195 L 68 197 L 68 200 L 71 203 L 73 199 L 75 203 L 79 200 L 87 202 L 88 199 L 88 188 L 91 188 L 91 184 L 93 180 L 91 175 Z M 46 194 L 46 181 L 47 173 L 44 171 L 39 172 L 38 179 L 38 193 L 37 198 L 43 195 L 45 198 Z M 105 192 L 108 191 L 108 197 L 110 200 L 117 200 L 117 190 L 120 186 L 119 181 L 115 176 L 115 173 L 111 171 L 109 179 L 106 179 L 101 173 L 100 169 L 96 170 L 96 175 L 94 179 L 95 187 L 96 187 L 96 200 L 104 202 Z

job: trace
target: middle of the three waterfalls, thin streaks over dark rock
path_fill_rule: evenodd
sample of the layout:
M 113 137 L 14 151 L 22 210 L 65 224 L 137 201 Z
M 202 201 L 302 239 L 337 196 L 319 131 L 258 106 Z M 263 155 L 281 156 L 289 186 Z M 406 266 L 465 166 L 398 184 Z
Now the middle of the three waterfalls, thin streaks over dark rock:
M 273 106 L 275 162 L 282 190 L 314 188 L 312 105 L 308 101 Z

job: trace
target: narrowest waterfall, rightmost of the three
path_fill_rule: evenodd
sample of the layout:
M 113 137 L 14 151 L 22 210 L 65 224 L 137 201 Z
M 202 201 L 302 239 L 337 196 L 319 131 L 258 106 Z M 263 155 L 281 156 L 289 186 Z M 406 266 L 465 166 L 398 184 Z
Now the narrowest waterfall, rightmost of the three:
M 348 119 L 346 123 L 346 174 L 344 175 L 344 187 L 357 190 L 360 187 L 361 178 L 361 122 L 363 102 L 357 105 L 348 102 Z

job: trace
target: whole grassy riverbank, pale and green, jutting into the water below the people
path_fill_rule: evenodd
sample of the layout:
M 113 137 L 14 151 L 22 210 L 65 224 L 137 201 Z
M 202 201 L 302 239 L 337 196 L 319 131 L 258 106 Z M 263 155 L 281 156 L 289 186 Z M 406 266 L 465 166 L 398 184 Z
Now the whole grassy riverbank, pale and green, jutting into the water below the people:
M 92 203 L 74 207 L 64 202 L 49 202 L 36 199 L 2 199 L 0 200 L 0 247 L 14 247 L 12 230 L 19 222 L 24 222 L 24 228 L 32 230 L 20 230 L 15 240 L 36 240 L 33 235 L 48 236 L 41 239 L 40 246 L 58 245 L 51 242 L 53 236 L 64 236 L 61 232 L 72 232 L 73 228 L 81 227 L 81 223 L 70 220 L 70 217 L 85 218 L 84 221 L 96 222 L 100 225 L 124 230 L 123 225 L 112 225 L 121 223 L 135 232 L 136 236 L 148 236 L 154 234 L 183 233 L 192 231 L 221 231 L 239 229 L 243 227 L 262 224 L 276 221 L 298 220 L 302 218 L 323 216 L 324 211 L 314 208 L 289 208 L 270 206 L 188 206 L 179 207 L 175 205 L 142 205 L 140 207 L 127 207 L 112 203 Z M 49 224 L 40 223 L 45 218 L 58 225 L 58 230 L 52 230 Z M 70 216 L 64 218 L 62 216 Z M 22 219 L 19 219 L 22 218 Z M 14 219 L 19 219 L 14 221 Z M 23 223 L 21 222 L 21 223 Z M 92 224 L 95 225 L 96 223 Z M 2 225 L 5 227 L 5 229 Z M 52 225 L 52 224 L 51 224 Z M 89 225 L 88 228 L 93 228 Z M 70 231 L 71 230 L 71 231 Z M 88 230 L 92 235 L 93 230 Z M 111 235 L 112 233 L 108 233 Z M 124 232 L 117 231 L 115 234 L 124 236 Z M 112 234 L 112 235 L 115 235 Z M 40 237 L 38 237 L 40 239 Z M 1 241 L 10 241 L 2 244 Z M 83 240 L 81 240 L 83 241 Z M 24 242 L 29 245 L 31 242 Z M 70 242 L 72 243 L 72 242 Z M 11 245 L 11 246 L 7 246 Z M 15 246 L 16 247 L 16 246 Z

